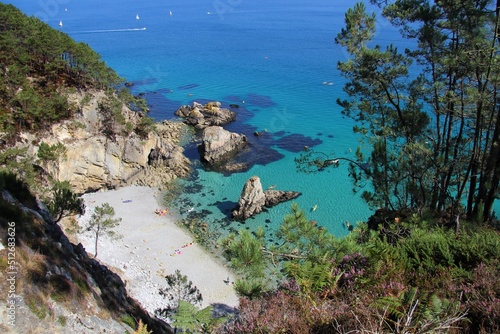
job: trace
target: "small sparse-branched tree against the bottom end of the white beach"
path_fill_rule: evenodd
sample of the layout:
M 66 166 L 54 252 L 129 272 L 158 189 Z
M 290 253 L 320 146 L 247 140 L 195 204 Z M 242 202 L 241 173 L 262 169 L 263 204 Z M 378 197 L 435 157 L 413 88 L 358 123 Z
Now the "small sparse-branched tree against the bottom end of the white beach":
M 164 318 L 170 318 L 177 313 L 179 303 L 185 301 L 192 304 L 201 304 L 203 297 L 200 290 L 193 285 L 193 282 L 188 281 L 187 276 L 182 275 L 180 270 L 176 270 L 174 274 L 165 276 L 167 286 L 160 288 L 160 296 L 168 300 L 168 305 L 164 308 L 159 308 L 155 313 Z

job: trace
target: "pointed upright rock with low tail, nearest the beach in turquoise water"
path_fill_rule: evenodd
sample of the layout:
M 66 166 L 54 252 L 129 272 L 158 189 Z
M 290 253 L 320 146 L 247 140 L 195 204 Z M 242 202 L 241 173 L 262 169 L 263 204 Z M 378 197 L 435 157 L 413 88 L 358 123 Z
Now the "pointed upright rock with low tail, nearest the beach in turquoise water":
M 236 220 L 245 220 L 260 212 L 264 207 L 272 207 L 300 196 L 296 191 L 262 190 L 258 176 L 252 176 L 245 183 L 232 215 Z

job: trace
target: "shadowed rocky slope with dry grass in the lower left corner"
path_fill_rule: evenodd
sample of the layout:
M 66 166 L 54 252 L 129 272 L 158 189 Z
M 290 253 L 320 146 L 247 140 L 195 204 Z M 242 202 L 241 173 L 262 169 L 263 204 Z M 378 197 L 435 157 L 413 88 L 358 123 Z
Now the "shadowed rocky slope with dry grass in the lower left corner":
M 118 275 L 69 242 L 22 183 L 7 180 L 0 185 L 2 333 L 131 333 L 139 319 L 154 333 L 171 333 L 127 295 Z

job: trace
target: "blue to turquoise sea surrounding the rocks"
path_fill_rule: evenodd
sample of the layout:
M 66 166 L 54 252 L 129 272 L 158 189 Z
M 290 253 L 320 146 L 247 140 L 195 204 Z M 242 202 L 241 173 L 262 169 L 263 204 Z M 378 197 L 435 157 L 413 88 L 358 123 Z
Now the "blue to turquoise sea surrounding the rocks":
M 352 157 L 359 145 L 353 121 L 335 102 L 344 83 L 336 66 L 346 54 L 334 38 L 355 0 L 6 2 L 89 44 L 134 83 L 134 93 L 145 94 L 156 120 L 174 118 L 178 107 L 193 101 L 240 105 L 238 120 L 228 129 L 251 138 L 259 152 L 256 164 L 226 176 L 206 171 L 196 163 L 196 150 L 188 148 L 196 170 L 172 209 L 193 208 L 190 214 L 235 229 L 273 230 L 291 202 L 245 224 L 228 219 L 245 181 L 257 175 L 264 188 L 301 192 L 296 202 L 308 218 L 337 236 L 347 233 L 346 221 L 353 224 L 371 214 L 353 193 L 346 165 L 304 174 L 294 163 L 304 146 Z M 408 46 L 383 19 L 377 29 L 377 43 Z M 253 137 L 254 131 L 266 136 Z

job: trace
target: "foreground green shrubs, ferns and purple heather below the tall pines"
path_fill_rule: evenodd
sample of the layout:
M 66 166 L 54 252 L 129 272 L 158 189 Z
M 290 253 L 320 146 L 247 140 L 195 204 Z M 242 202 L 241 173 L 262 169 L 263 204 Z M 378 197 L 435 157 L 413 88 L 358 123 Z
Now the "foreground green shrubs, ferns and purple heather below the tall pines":
M 220 332 L 500 330 L 497 230 L 464 223 L 457 231 L 432 216 L 382 210 L 375 217 L 335 238 L 294 205 L 276 242 L 262 229 L 229 236 L 222 244 L 242 272 L 242 299 Z

